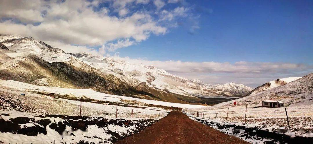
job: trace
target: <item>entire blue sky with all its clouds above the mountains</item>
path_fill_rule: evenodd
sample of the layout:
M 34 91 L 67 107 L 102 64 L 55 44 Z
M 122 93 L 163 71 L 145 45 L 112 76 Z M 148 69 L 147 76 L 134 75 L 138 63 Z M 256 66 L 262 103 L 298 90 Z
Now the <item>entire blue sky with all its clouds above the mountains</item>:
M 0 0 L 0 33 L 255 88 L 313 71 L 313 1 Z

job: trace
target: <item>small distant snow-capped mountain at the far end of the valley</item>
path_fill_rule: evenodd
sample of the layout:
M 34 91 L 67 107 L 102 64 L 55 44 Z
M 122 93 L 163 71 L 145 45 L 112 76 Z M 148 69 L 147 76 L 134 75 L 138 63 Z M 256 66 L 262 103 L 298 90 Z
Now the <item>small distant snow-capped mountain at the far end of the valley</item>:
M 214 89 L 217 90 L 223 90 L 223 91 L 228 91 L 234 94 L 239 94 L 239 95 L 246 95 L 248 94 L 251 90 L 253 90 L 252 88 L 245 86 L 245 85 L 239 85 L 239 84 L 235 84 L 235 83 L 226 83 L 223 85 L 218 85 L 215 86 Z

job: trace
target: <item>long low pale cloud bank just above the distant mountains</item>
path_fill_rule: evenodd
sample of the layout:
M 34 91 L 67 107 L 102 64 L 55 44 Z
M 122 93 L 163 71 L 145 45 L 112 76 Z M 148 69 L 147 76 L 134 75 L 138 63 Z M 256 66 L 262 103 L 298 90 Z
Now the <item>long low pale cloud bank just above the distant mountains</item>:
M 235 82 L 255 88 L 271 80 L 285 77 L 304 76 L 312 73 L 313 66 L 292 63 L 266 62 L 182 62 L 182 61 L 151 61 L 146 59 L 121 58 L 134 64 L 153 65 L 172 74 L 188 79 L 200 79 L 206 83 L 224 84 Z M 218 82 L 218 83 L 217 83 Z

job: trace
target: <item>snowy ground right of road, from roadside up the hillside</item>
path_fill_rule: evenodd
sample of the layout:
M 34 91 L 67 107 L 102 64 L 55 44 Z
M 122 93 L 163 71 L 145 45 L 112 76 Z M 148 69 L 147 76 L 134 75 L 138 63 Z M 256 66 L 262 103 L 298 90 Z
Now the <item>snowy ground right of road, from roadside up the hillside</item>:
M 282 133 L 285 139 L 298 137 L 310 137 L 313 141 L 313 73 L 302 78 L 295 78 L 289 83 L 280 85 L 268 90 L 260 91 L 237 100 L 223 102 L 212 107 L 186 109 L 190 116 L 196 117 L 199 121 L 217 126 L 221 131 L 234 134 L 235 129 L 253 128 L 259 133 Z M 280 100 L 287 104 L 286 107 L 262 107 L 262 100 Z M 234 105 L 234 102 L 237 102 Z M 289 125 L 286 112 L 288 114 Z M 253 130 L 253 131 L 254 131 Z M 254 137 L 253 131 L 247 136 L 244 132 L 241 135 L 254 143 L 261 143 L 261 139 Z M 266 137 L 266 136 L 265 136 Z M 280 138 L 273 138 L 280 139 Z M 300 139 L 300 138 L 299 138 Z M 263 139 L 264 141 L 268 141 Z M 251 142 L 253 142 L 251 141 Z M 289 140 L 286 140 L 289 141 Z

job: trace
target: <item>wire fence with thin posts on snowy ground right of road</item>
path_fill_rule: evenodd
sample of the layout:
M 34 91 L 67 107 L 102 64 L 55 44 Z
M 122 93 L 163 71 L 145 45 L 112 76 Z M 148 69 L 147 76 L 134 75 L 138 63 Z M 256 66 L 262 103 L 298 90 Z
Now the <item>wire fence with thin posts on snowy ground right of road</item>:
M 261 110 L 262 109 L 262 110 Z M 230 107 L 223 109 L 209 110 L 187 110 L 194 117 L 223 121 L 223 122 L 241 122 L 241 123 L 269 123 L 292 128 L 299 123 L 304 126 L 313 126 L 313 108 L 242 108 Z

